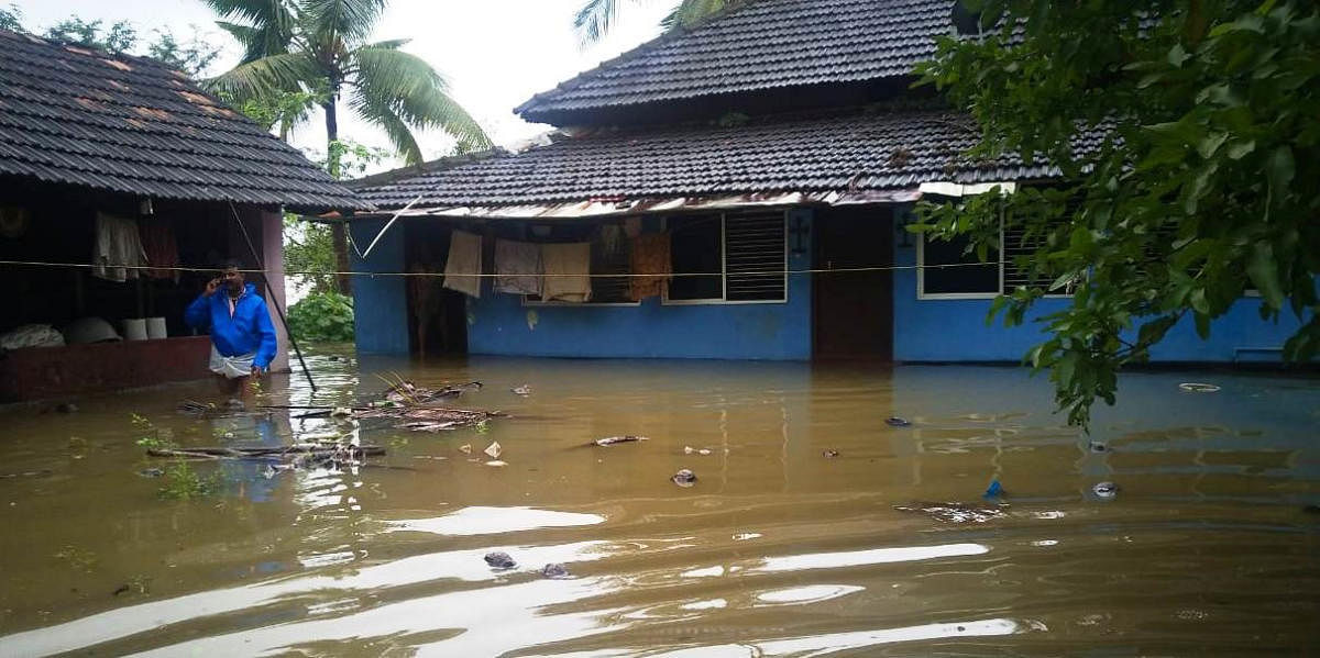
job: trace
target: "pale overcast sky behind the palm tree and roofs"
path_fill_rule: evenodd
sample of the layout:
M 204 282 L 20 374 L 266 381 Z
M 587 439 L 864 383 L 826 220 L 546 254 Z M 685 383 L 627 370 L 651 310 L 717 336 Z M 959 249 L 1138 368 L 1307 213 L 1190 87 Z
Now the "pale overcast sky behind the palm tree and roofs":
M 623 3 L 615 30 L 602 44 L 581 49 L 573 33 L 573 13 L 582 0 L 391 0 L 374 40 L 411 38 L 405 50 L 430 62 L 450 80 L 450 91 L 486 128 L 496 144 L 511 145 L 546 131 L 512 113 L 513 107 L 539 91 L 554 87 L 578 71 L 616 57 L 659 33 L 668 0 Z M 139 33 L 172 30 L 183 38 L 190 25 L 230 46 L 216 71 L 236 62 L 230 37 L 214 28 L 215 17 L 201 0 L 0 0 L 16 4 L 29 29 L 41 32 L 77 15 L 83 20 L 127 20 Z M 388 146 L 384 135 L 364 127 L 342 108 L 341 137 Z M 441 135 L 421 135 L 428 158 L 446 152 Z M 322 120 L 314 119 L 293 136 L 298 146 L 325 148 Z

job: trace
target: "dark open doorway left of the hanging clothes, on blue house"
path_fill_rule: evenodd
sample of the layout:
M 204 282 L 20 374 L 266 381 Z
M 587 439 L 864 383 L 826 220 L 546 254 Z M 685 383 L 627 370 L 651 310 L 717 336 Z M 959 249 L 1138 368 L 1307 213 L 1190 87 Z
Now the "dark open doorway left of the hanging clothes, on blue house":
M 409 219 L 404 229 L 408 273 L 441 273 L 453 228 L 432 219 Z M 467 353 L 467 298 L 444 287 L 444 277 L 407 277 L 408 344 L 413 355 Z

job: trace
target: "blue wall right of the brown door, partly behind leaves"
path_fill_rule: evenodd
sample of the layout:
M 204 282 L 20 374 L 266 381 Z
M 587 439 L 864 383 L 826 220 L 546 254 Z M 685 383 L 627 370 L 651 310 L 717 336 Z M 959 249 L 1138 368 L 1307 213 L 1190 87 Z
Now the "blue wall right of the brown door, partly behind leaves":
M 916 247 L 895 245 L 895 265 L 915 265 Z M 1039 318 L 1067 307 L 1071 299 L 1049 298 L 1036 303 L 1028 318 Z M 1173 327 L 1151 351 L 1152 361 L 1278 361 L 1280 348 L 1300 322 L 1288 315 L 1278 323 L 1258 314 L 1261 301 L 1241 299 L 1228 315 L 1210 326 L 1210 339 L 1196 335 L 1191 318 Z M 920 361 L 1019 361 L 1032 345 L 1044 340 L 1041 324 L 1005 327 L 997 319 L 986 324 L 990 299 L 917 299 L 916 270 L 894 273 L 894 360 Z M 1250 348 L 1253 351 L 1243 351 Z

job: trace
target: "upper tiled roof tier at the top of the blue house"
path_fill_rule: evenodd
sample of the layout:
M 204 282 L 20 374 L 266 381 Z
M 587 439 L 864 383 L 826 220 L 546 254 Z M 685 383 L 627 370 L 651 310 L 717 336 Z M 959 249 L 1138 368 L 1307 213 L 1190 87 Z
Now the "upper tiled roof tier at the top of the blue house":
M 614 105 L 907 75 L 949 34 L 953 0 L 752 0 L 539 94 L 529 120 Z

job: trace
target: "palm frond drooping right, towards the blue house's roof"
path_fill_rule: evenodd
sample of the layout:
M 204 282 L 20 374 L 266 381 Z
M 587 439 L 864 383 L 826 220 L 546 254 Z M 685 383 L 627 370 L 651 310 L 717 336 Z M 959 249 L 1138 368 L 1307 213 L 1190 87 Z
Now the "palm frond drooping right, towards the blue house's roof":
M 350 57 L 352 76 L 348 83 L 355 87 L 362 108 L 374 115 L 388 109 L 408 127 L 438 128 L 479 148 L 491 145 L 480 124 L 449 95 L 445 78 L 424 59 L 376 47 L 359 47 Z

